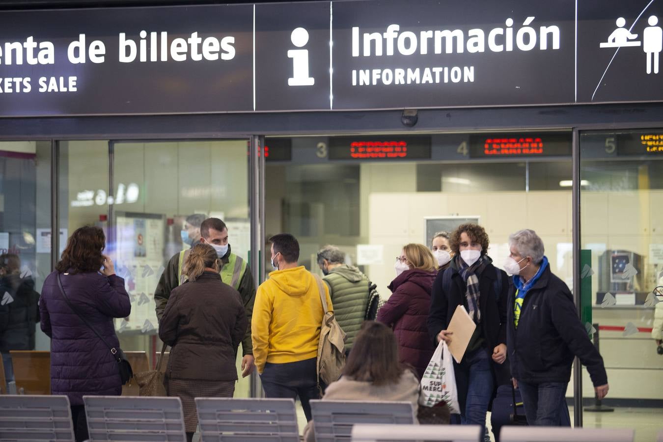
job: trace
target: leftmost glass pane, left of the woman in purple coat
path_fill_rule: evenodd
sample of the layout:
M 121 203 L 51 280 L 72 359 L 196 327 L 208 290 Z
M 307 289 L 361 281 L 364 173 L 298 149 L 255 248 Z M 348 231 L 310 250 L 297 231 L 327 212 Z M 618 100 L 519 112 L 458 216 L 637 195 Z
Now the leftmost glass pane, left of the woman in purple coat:
M 48 349 L 38 298 L 50 273 L 50 141 L 0 142 L 0 390 L 15 380 L 41 392 L 42 370 L 24 372 L 12 352 Z M 17 367 L 14 370 L 14 367 Z M 47 388 L 47 387 L 46 387 Z

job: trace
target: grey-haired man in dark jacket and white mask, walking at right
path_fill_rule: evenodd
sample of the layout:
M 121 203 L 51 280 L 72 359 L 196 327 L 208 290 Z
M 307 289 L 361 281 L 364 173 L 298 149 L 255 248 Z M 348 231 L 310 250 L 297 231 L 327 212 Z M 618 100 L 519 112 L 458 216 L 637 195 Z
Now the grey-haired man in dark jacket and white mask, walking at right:
M 608 393 L 603 358 L 578 319 L 566 284 L 550 272 L 544 245 L 536 232 L 509 237 L 511 254 L 504 264 L 512 274 L 507 309 L 507 349 L 514 386 L 520 388 L 529 425 L 562 422 L 573 357 L 587 366 L 596 396 Z M 567 425 L 570 425 L 570 420 Z

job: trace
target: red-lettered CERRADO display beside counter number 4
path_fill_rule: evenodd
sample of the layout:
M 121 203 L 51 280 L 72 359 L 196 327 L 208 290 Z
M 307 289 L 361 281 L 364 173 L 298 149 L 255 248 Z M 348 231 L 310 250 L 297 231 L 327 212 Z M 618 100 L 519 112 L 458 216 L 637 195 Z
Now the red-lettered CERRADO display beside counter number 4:
M 471 158 L 512 156 L 569 156 L 570 133 L 481 134 L 469 137 Z

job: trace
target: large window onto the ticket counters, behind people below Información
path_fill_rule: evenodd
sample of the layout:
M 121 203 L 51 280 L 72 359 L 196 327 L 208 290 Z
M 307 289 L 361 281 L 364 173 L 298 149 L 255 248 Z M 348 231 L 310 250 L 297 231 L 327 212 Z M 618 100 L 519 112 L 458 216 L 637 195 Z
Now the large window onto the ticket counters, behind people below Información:
M 544 239 L 553 272 L 572 286 L 571 137 L 542 137 L 531 154 L 526 149 L 539 137 L 292 138 L 289 161 L 267 158 L 267 234 L 298 237 L 300 264 L 316 272 L 317 251 L 338 246 L 387 298 L 393 256 L 407 243 L 430 247 L 438 230 L 478 221 L 501 266 L 509 235 L 531 228 Z M 398 143 L 408 150 L 396 152 Z

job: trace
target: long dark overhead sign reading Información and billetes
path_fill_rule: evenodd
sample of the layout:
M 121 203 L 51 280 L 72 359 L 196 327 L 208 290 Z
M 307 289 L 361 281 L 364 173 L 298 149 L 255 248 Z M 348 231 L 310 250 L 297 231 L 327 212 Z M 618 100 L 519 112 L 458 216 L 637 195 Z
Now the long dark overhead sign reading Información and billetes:
M 662 101 L 661 18 L 648 0 L 5 11 L 0 116 Z

